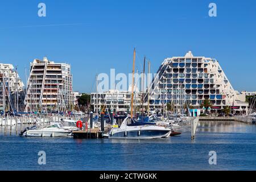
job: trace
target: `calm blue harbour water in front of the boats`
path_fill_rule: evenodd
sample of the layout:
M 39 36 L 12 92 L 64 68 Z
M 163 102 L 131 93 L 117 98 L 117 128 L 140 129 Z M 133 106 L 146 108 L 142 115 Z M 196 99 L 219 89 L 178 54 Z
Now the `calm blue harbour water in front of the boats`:
M 38 152 L 46 152 L 46 165 Z M 209 151 L 217 165 L 209 165 Z M 22 138 L 0 133 L 0 170 L 255 170 L 256 127 L 201 122 L 196 139 L 157 140 Z

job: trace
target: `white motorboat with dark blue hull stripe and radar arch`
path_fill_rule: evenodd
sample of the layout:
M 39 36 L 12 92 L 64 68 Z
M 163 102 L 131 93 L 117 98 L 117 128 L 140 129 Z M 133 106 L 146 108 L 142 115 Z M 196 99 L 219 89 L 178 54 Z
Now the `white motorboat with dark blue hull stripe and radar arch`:
M 112 128 L 109 138 L 118 139 L 155 139 L 170 137 L 171 129 L 156 125 L 137 125 L 135 119 L 126 117 L 119 128 Z

